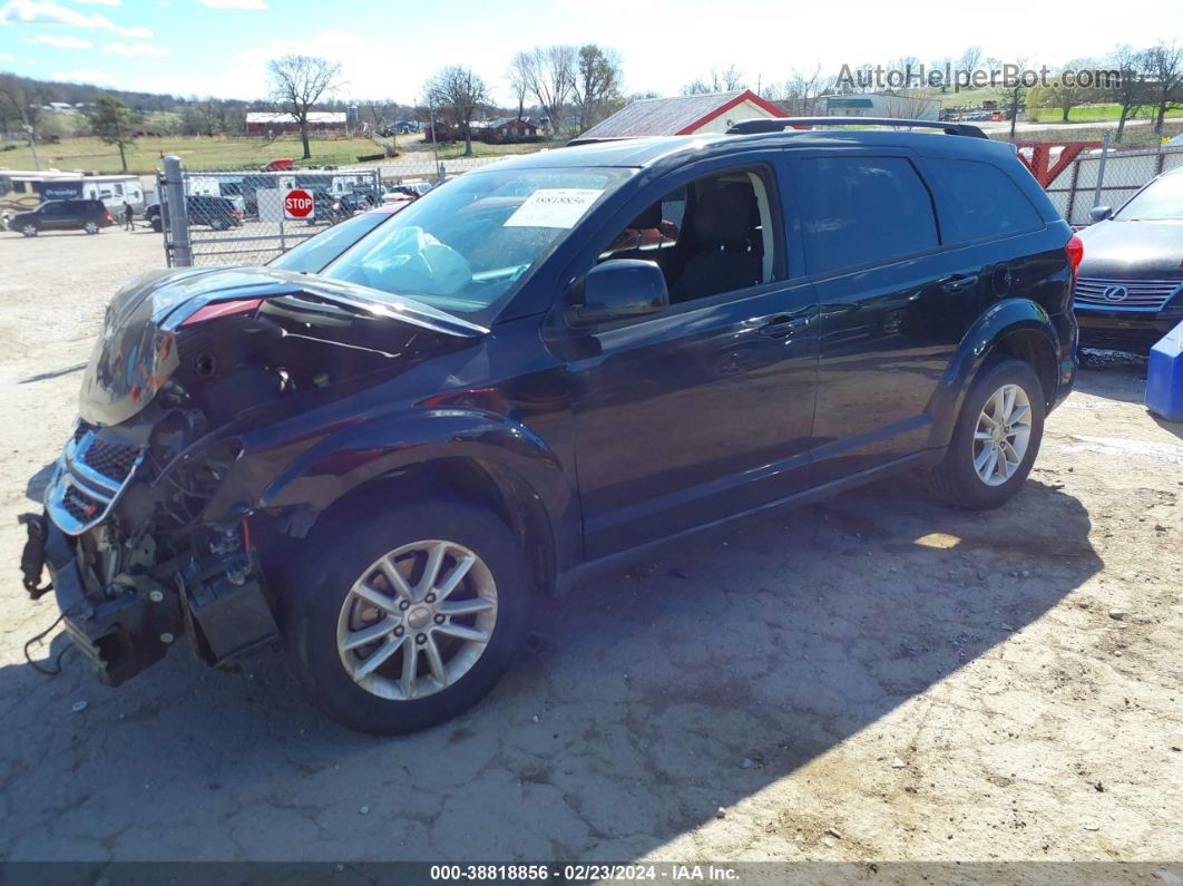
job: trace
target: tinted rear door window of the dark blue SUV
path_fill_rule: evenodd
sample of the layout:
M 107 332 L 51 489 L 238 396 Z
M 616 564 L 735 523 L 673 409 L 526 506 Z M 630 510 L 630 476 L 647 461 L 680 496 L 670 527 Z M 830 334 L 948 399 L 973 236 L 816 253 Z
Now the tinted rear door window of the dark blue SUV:
M 806 159 L 801 172 L 800 215 L 809 273 L 936 248 L 932 198 L 907 160 Z

